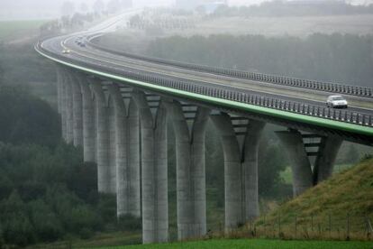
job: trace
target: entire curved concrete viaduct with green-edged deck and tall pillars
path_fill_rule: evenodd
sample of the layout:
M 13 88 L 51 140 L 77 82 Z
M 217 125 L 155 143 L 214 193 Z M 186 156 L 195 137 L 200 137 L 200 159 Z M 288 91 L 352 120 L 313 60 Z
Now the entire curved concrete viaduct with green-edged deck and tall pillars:
M 372 88 L 112 51 L 96 40 L 115 22 L 35 50 L 56 64 L 63 138 L 96 162 L 98 190 L 116 195 L 118 217 L 142 218 L 143 243 L 168 241 L 167 116 L 176 134 L 179 239 L 206 234 L 208 119 L 223 144 L 226 230 L 259 216 L 258 144 L 267 123 L 286 127 L 277 136 L 295 196 L 331 176 L 342 141 L 373 145 Z M 350 107 L 326 107 L 332 94 Z

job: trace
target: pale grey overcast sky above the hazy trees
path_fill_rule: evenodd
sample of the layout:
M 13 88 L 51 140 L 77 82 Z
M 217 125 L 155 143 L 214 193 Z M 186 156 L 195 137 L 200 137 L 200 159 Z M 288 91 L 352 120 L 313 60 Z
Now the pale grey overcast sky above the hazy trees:
M 60 6 L 66 0 L 0 0 L 0 20 L 52 19 L 59 16 Z M 89 7 L 96 0 L 72 0 L 75 5 L 86 3 Z M 107 2 L 108 0 L 104 0 Z M 228 0 L 229 5 L 256 5 L 265 0 Z M 147 5 L 174 5 L 175 0 L 132 0 L 135 7 Z M 372 3 L 373 0 L 350 0 L 353 4 Z

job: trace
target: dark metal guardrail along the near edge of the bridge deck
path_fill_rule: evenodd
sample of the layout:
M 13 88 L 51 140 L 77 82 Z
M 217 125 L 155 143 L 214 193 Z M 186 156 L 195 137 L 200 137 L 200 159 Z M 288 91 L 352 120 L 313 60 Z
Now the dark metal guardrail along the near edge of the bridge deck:
M 70 58 L 64 57 L 60 54 L 55 54 L 50 51 L 47 51 L 39 46 L 37 46 L 40 51 L 43 51 L 45 54 L 50 57 L 71 62 L 78 66 L 87 67 L 89 69 L 102 70 L 100 65 L 93 63 L 87 63 L 86 61 L 81 60 L 71 60 Z M 373 127 L 373 116 L 365 115 L 358 112 L 351 112 L 349 110 L 341 109 L 332 109 L 326 106 L 314 106 L 307 105 L 304 103 L 296 101 L 287 101 L 276 97 L 262 97 L 259 95 L 242 93 L 239 90 L 234 89 L 225 89 L 216 87 L 209 87 L 198 84 L 197 81 L 192 80 L 173 80 L 169 78 L 162 78 L 160 76 L 155 76 L 155 74 L 150 74 L 148 72 L 134 72 L 133 69 L 128 69 L 123 71 L 126 68 L 121 69 L 110 69 L 111 73 L 114 73 L 118 76 L 123 76 L 125 78 L 132 78 L 134 80 L 139 80 L 142 82 L 148 82 L 157 86 L 166 87 L 166 88 L 175 88 L 182 91 L 187 91 L 190 93 L 205 95 L 208 97 L 218 97 L 226 100 L 232 100 L 236 102 L 241 102 L 245 104 L 262 106 L 271 109 L 277 109 L 281 111 L 286 111 L 290 113 L 296 113 L 300 115 L 309 115 L 349 124 L 359 124 L 362 126 Z

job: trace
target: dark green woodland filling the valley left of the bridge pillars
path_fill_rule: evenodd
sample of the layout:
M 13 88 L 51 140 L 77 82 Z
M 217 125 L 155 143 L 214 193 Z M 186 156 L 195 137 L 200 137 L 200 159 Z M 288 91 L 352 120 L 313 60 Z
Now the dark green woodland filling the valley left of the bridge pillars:
M 0 248 L 141 228 L 117 220 L 115 197 L 97 192 L 96 164 L 60 141 L 49 104 L 2 86 L 0 120 Z

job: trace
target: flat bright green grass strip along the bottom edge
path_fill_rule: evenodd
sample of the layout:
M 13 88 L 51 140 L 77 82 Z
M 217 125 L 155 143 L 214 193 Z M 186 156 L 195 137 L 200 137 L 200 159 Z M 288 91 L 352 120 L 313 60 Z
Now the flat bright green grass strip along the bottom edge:
M 343 242 L 343 241 L 284 241 L 284 240 L 266 240 L 266 239 L 227 239 L 227 240 L 207 240 L 185 243 L 170 243 L 170 244 L 141 244 L 131 246 L 114 246 L 114 247 L 100 247 L 101 249 L 194 249 L 194 248 L 373 248 L 371 242 Z

